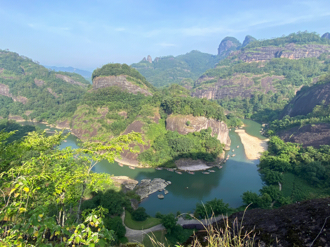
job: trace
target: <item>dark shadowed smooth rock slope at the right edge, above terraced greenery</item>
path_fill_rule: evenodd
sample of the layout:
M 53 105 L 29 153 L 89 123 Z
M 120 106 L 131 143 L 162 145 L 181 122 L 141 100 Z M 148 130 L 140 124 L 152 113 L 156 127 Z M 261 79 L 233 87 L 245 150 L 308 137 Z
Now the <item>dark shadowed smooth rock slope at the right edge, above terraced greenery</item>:
M 313 111 L 316 105 L 328 105 L 329 103 L 330 82 L 315 85 L 309 89 L 298 91 L 297 95 L 284 107 L 279 119 L 282 119 L 285 115 L 290 117 L 307 115 Z

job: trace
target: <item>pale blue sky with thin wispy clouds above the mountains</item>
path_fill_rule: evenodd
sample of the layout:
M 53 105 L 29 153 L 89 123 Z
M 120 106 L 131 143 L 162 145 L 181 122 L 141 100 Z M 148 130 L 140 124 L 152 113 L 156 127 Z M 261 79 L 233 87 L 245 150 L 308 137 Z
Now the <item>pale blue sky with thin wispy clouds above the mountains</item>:
M 109 62 L 191 50 L 216 54 L 220 41 L 297 31 L 330 32 L 325 1 L 5 1 L 0 48 L 43 65 L 92 71 Z

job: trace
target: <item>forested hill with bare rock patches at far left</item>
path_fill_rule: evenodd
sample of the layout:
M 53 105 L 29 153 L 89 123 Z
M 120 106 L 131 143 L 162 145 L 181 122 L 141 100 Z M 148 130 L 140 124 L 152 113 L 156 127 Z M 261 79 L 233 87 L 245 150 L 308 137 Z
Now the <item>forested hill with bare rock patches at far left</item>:
M 90 83 L 81 75 L 49 71 L 25 56 L 0 50 L 0 116 L 55 121 L 73 114 Z

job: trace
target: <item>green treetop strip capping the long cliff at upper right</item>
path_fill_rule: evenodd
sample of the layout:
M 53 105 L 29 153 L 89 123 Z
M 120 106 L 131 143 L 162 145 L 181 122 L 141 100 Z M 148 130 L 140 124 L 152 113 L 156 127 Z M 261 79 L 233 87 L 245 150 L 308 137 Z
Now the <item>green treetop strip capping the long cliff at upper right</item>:
M 261 47 L 261 46 L 284 46 L 288 43 L 306 44 L 306 43 L 319 43 L 319 44 L 330 44 L 330 40 L 321 38 L 316 32 L 297 32 L 291 33 L 287 36 L 282 36 L 274 39 L 267 40 L 255 40 L 251 41 L 245 48 Z

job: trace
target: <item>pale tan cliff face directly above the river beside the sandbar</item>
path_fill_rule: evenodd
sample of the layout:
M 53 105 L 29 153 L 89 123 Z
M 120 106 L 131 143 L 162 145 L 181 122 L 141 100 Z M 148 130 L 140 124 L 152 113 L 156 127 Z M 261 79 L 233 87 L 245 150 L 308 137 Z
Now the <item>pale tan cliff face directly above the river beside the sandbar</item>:
M 189 121 L 189 126 L 186 122 Z M 230 146 L 229 130 L 224 122 L 220 122 L 214 119 L 208 119 L 206 117 L 193 117 L 191 115 L 170 115 L 166 119 L 166 130 L 178 131 L 180 134 L 187 134 L 189 132 L 200 131 L 211 127 L 212 135 L 215 136 L 221 143 L 226 145 L 226 148 Z

